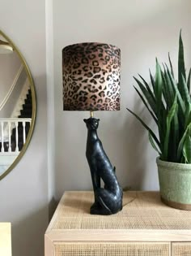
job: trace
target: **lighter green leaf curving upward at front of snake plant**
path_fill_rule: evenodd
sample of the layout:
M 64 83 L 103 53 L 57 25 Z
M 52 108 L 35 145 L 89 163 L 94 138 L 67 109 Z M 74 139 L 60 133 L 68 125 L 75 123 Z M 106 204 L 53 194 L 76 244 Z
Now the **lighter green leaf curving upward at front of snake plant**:
M 168 145 L 169 145 L 169 134 L 170 134 L 170 129 L 171 129 L 171 124 L 172 124 L 172 119 L 174 118 L 174 115 L 177 113 L 177 96 L 175 96 L 174 102 L 172 104 L 172 107 L 170 111 L 168 112 L 167 116 L 167 132 L 164 140 L 164 147 L 163 147 L 163 160 L 166 161 L 168 160 Z

